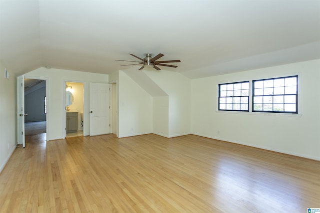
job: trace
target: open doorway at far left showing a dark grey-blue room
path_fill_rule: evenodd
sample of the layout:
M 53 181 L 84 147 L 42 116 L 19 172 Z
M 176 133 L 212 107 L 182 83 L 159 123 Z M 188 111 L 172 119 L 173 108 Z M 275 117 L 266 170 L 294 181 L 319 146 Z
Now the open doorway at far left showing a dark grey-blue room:
M 24 78 L 24 135 L 46 138 L 45 80 Z

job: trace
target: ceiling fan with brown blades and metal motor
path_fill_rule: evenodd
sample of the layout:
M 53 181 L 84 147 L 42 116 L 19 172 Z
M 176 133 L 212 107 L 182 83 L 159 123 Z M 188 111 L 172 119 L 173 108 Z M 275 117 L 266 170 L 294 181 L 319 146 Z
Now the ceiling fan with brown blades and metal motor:
M 146 53 L 145 57 L 143 59 L 138 57 L 138 56 L 135 56 L 135 55 L 133 55 L 131 53 L 129 53 L 129 55 L 132 55 L 133 57 L 138 58 L 141 61 L 129 61 L 129 62 L 137 62 L 137 63 L 136 64 L 126 64 L 126 65 L 121 65 L 121 66 L 130 66 L 130 65 L 143 64 L 139 70 L 143 69 L 144 67 L 153 67 L 156 70 L 160 70 L 160 68 L 157 67 L 157 66 L 168 66 L 168 67 L 174 67 L 174 68 L 177 67 L 175 65 L 164 64 L 164 63 L 180 62 L 180 60 L 156 61 L 157 59 L 159 59 L 160 57 L 163 56 L 163 54 L 161 54 L 161 53 L 157 54 L 153 58 L 152 58 L 152 54 Z M 116 60 L 116 61 L 126 61 L 126 60 Z

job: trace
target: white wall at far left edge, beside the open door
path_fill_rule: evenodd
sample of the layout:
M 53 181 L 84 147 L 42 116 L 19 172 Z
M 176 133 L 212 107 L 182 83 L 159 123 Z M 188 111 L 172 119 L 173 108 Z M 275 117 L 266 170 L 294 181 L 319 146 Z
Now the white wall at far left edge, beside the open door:
M 16 144 L 16 77 L 7 69 L 10 76 L 5 79 L 4 68 L 0 62 L 0 172 Z

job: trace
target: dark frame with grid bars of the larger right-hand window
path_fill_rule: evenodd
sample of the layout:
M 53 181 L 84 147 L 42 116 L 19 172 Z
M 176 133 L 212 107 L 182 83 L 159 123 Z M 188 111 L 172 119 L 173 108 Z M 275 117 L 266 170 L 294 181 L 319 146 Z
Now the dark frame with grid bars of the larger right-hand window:
M 285 86 L 285 79 L 287 78 L 296 78 L 296 84 L 295 84 L 295 93 L 288 93 L 285 94 L 285 88 L 289 87 L 289 86 Z M 284 84 L 283 86 L 274 86 L 274 80 L 279 80 L 279 79 L 283 79 L 284 80 Z M 273 80 L 273 86 L 270 87 L 265 87 L 264 83 L 265 81 L 269 81 L 269 80 Z M 263 82 L 263 87 L 258 87 L 255 88 L 255 82 L 259 82 L 262 81 Z M 283 93 L 279 93 L 279 94 L 274 94 L 274 88 L 282 88 L 283 87 Z M 272 94 L 264 94 L 265 89 L 269 89 L 271 90 L 272 88 Z M 256 95 L 255 94 L 255 89 L 263 89 L 263 94 L 262 95 Z M 282 102 L 276 102 L 274 103 L 274 100 L 276 97 L 281 98 L 281 96 L 283 97 L 283 101 Z M 289 97 L 289 96 L 295 96 L 295 102 L 290 103 L 290 102 L 285 102 L 285 97 Z M 261 97 L 262 99 L 262 103 L 256 103 L 254 102 L 254 98 L 255 97 Z M 270 104 L 272 105 L 272 110 L 263 110 L 263 104 L 264 104 L 264 97 L 269 97 L 272 99 L 271 102 L 269 103 L 265 103 L 265 104 Z M 292 75 L 292 76 L 285 76 L 285 77 L 276 77 L 276 78 L 266 78 L 266 79 L 259 79 L 259 80 L 252 80 L 252 112 L 266 112 L 266 113 L 288 113 L 288 114 L 298 114 L 298 75 Z M 254 104 L 262 104 L 262 110 L 255 110 L 254 108 Z M 276 107 L 276 105 L 280 105 L 283 104 L 283 111 L 279 111 L 279 110 L 274 110 L 274 108 Z M 295 104 L 295 111 L 284 111 L 284 105 L 285 104 Z

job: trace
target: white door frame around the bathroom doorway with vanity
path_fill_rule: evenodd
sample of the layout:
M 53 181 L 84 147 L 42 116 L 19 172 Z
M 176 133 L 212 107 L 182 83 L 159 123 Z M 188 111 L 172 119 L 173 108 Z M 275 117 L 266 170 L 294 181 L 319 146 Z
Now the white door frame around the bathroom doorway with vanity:
M 63 113 L 63 124 L 62 124 L 62 138 L 64 139 L 66 137 L 66 106 L 65 106 L 65 87 L 66 87 L 66 82 L 74 82 L 74 83 L 83 83 L 83 136 L 87 136 L 87 130 L 86 130 L 86 116 L 87 116 L 87 85 L 85 81 L 77 81 L 77 80 L 64 80 L 63 82 L 63 101 L 62 101 L 62 109 L 64 110 Z

